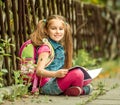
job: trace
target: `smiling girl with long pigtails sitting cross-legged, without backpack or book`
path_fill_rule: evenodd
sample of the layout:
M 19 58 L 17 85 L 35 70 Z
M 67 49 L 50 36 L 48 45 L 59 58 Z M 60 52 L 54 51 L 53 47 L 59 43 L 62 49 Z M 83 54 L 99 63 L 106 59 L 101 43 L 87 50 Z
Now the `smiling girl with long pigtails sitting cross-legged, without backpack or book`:
M 36 75 L 42 94 L 79 96 L 91 92 L 91 80 L 84 81 L 81 68 L 69 71 L 72 67 L 73 41 L 70 25 L 64 17 L 52 15 L 40 20 L 30 38 L 37 47 Z M 54 58 L 46 67 L 52 52 L 50 46 L 44 44 L 47 41 L 53 47 Z

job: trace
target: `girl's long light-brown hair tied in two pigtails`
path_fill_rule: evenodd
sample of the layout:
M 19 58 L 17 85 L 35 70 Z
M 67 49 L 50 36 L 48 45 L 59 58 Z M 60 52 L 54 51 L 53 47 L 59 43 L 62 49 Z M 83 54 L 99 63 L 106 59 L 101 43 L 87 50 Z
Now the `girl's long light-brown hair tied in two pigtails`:
M 61 44 L 65 49 L 65 68 L 70 68 L 72 66 L 72 56 L 73 56 L 73 40 L 72 31 L 70 25 L 66 22 L 65 18 L 60 15 L 51 15 L 46 20 L 40 20 L 35 31 L 30 35 L 32 43 L 35 46 L 41 45 L 42 39 L 47 38 L 46 30 L 49 27 L 49 22 L 52 19 L 62 20 L 65 24 L 65 36 Z

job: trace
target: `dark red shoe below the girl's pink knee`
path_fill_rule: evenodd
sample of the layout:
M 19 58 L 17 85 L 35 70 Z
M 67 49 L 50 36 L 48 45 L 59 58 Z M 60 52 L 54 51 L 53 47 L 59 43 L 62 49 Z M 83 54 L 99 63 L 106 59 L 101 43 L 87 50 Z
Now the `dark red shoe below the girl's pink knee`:
M 79 96 L 82 93 L 82 90 L 78 86 L 73 86 L 68 88 L 65 92 L 64 95 L 67 96 Z

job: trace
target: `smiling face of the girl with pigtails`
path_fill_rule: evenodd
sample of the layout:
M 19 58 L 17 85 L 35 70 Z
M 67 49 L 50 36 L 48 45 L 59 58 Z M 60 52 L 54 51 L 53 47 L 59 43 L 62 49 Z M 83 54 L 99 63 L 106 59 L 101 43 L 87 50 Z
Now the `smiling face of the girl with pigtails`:
M 52 19 L 49 21 L 48 24 L 49 25 L 48 25 L 47 33 L 49 37 L 56 42 L 59 42 L 60 40 L 62 40 L 65 33 L 65 30 L 64 30 L 65 23 L 59 19 Z

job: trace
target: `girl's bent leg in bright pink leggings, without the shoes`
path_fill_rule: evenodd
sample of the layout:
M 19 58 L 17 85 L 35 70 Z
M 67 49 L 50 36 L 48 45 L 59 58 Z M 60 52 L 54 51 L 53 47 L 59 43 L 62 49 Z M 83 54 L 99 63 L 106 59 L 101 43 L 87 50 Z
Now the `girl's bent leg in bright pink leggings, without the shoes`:
M 84 74 L 81 70 L 74 69 L 68 72 L 64 78 L 58 78 L 57 83 L 62 91 L 65 91 L 72 86 L 82 88 L 84 84 Z

